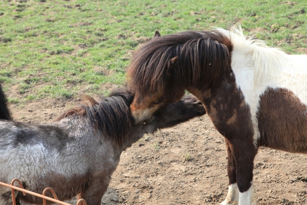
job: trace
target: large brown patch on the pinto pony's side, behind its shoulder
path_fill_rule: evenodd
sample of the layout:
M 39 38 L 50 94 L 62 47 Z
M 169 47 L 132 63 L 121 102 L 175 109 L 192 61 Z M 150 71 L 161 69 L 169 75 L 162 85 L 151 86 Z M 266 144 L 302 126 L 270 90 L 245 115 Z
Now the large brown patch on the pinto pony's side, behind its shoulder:
M 307 106 L 292 91 L 268 88 L 257 116 L 259 146 L 307 153 Z

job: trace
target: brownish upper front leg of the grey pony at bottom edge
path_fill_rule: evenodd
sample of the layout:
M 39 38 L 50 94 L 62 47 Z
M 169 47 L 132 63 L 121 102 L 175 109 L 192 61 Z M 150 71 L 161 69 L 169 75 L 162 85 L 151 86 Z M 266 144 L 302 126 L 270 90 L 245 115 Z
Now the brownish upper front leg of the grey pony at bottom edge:
M 93 178 L 89 187 L 79 193 L 77 199 L 83 198 L 87 205 L 100 205 L 103 194 L 111 180 L 110 176 Z

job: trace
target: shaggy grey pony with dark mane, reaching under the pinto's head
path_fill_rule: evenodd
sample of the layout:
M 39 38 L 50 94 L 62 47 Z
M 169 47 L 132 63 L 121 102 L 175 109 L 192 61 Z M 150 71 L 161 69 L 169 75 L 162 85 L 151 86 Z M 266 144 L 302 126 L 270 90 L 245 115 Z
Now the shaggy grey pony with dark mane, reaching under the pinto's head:
M 100 205 L 122 151 L 145 133 L 205 114 L 203 104 L 190 95 L 158 111 L 147 124 L 134 125 L 129 110 L 134 94 L 129 89 L 97 101 L 86 99 L 88 104 L 48 124 L 0 120 L 0 181 L 18 178 L 32 192 L 50 187 L 59 200 L 77 195 L 88 205 Z M 17 196 L 26 203 L 42 204 L 38 197 L 20 192 Z M 0 187 L 0 203 L 12 204 L 10 189 Z

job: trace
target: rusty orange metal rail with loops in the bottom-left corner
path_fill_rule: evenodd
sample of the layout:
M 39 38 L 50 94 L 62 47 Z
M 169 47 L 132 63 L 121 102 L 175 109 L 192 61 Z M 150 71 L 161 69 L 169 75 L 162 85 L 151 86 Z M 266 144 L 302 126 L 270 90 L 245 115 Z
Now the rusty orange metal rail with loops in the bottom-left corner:
M 14 182 L 15 182 L 15 181 L 18 182 L 20 188 L 14 186 Z M 65 203 L 65 202 L 63 202 L 63 201 L 59 201 L 59 200 L 58 200 L 58 197 L 57 197 L 56 194 L 55 194 L 55 192 L 54 192 L 53 189 L 51 189 L 51 188 L 46 188 L 45 190 L 43 190 L 42 195 L 41 195 L 41 194 L 37 194 L 37 193 L 35 193 L 35 192 L 31 192 L 31 191 L 29 191 L 29 190 L 26 190 L 26 189 L 24 189 L 23 184 L 20 182 L 19 179 L 13 179 L 13 180 L 11 181 L 11 185 L 8 185 L 7 183 L 0 182 L 0 186 L 4 186 L 4 187 L 11 188 L 11 190 L 12 190 L 12 201 L 13 201 L 13 205 L 16 205 L 15 192 L 14 192 L 14 190 L 23 192 L 24 196 L 25 196 L 26 194 L 31 194 L 31 195 L 33 195 L 33 196 L 42 198 L 43 205 L 46 205 L 46 204 L 47 204 L 47 201 L 46 201 L 46 200 L 52 201 L 52 202 L 55 202 L 55 203 L 61 204 L 61 205 L 71 205 L 71 204 L 69 204 L 69 203 Z M 51 197 L 46 196 L 46 193 L 47 193 L 48 191 L 50 191 L 50 192 L 52 193 L 52 195 L 53 195 L 54 198 L 51 198 Z M 85 200 L 84 200 L 84 199 L 79 199 L 79 200 L 77 201 L 77 205 L 82 205 L 82 204 L 83 204 L 83 205 L 86 205 Z

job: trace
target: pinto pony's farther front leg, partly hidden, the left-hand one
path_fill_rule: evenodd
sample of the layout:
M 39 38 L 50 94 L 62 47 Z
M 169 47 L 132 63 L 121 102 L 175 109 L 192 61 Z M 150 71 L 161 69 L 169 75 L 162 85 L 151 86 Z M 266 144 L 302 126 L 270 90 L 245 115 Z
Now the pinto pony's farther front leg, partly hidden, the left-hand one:
M 229 188 L 226 199 L 220 205 L 237 205 L 239 200 L 239 189 L 236 183 L 236 167 L 234 156 L 230 149 L 229 141 L 225 138 L 227 148 L 227 174 L 229 178 Z

